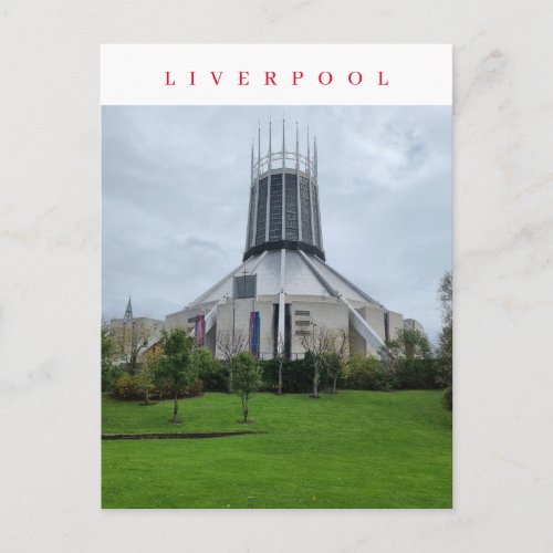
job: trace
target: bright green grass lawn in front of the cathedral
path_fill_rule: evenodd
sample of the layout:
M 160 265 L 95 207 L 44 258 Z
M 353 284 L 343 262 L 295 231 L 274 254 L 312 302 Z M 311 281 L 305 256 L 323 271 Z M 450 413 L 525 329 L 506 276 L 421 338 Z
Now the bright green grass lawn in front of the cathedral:
M 149 407 L 104 396 L 102 431 L 267 434 L 102 442 L 103 508 L 451 508 L 451 414 L 441 392 L 258 394 Z

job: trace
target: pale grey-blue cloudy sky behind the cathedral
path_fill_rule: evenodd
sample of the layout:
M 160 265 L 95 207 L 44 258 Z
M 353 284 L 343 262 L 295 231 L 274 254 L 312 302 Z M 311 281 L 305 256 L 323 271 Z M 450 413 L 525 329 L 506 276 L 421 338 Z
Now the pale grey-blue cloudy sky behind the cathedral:
M 165 319 L 242 259 L 251 142 L 316 134 L 326 261 L 439 332 L 451 267 L 451 109 L 441 106 L 104 106 L 102 313 Z

